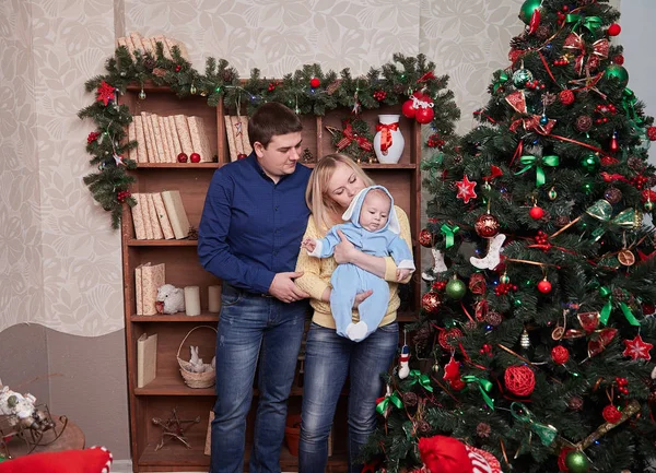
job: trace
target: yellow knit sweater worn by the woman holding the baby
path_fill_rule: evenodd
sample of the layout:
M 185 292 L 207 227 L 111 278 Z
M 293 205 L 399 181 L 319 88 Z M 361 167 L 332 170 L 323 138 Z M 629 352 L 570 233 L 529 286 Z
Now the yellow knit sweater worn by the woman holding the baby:
M 410 222 L 408 222 L 408 215 L 402 209 L 395 205 L 397 216 L 399 218 L 399 225 L 401 227 L 401 238 L 408 244 L 408 248 L 412 251 L 412 237 L 410 236 Z M 307 228 L 305 229 L 305 238 L 324 238 L 326 232 L 321 232 L 315 225 L 314 218 L 311 216 L 307 222 Z M 332 271 L 337 268 L 337 262 L 333 257 L 330 258 L 315 258 L 307 255 L 304 249 L 298 253 L 298 260 L 296 261 L 296 271 L 303 272 L 303 275 L 296 279 L 296 285 L 309 294 L 309 304 L 314 309 L 314 316 L 312 320 L 321 327 L 335 329 L 335 319 L 330 312 L 330 304 L 321 300 L 321 295 L 327 287 L 330 287 L 330 276 Z M 399 308 L 400 299 L 398 295 L 398 284 L 396 280 L 396 263 L 391 257 L 385 257 L 385 281 L 389 282 L 389 305 L 387 306 L 387 312 L 380 322 L 380 326 L 386 326 L 396 320 L 396 311 Z M 402 283 L 410 281 L 408 276 Z M 353 311 L 353 321 L 358 322 L 358 311 Z

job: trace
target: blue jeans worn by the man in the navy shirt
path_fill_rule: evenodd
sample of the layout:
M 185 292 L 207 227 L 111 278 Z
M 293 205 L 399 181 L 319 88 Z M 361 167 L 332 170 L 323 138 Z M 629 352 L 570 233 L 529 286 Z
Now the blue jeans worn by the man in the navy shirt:
M 244 471 L 246 415 L 259 355 L 259 399 L 249 471 L 278 473 L 288 398 L 308 306 L 305 300 L 284 304 L 227 284 L 223 285 L 221 301 L 210 471 Z

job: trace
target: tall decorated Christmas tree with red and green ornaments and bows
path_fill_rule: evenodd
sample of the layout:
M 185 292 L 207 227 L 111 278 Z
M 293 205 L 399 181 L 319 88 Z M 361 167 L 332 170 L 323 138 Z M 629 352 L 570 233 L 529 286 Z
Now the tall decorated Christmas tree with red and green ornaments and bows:
M 420 322 L 388 376 L 372 471 L 446 435 L 506 473 L 649 471 L 656 459 L 653 118 L 606 0 L 527 0 L 478 125 L 423 168 Z M 465 471 L 465 470 L 464 470 Z

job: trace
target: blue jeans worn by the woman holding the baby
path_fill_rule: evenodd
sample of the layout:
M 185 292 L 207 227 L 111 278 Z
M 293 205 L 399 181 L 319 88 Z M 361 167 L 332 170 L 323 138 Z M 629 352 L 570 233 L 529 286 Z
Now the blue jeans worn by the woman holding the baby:
M 335 329 L 312 323 L 305 347 L 298 446 L 301 473 L 326 470 L 328 436 L 347 376 L 350 376 L 349 472 L 362 471 L 362 464 L 353 464 L 353 461 L 376 427 L 376 399 L 383 393 L 380 374 L 389 368 L 398 343 L 397 322 L 379 327 L 359 343 L 339 336 Z

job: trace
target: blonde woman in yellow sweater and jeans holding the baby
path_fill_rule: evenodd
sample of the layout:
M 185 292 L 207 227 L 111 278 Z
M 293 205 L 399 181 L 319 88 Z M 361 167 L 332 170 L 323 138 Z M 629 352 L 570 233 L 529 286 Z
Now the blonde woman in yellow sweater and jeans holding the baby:
M 323 238 L 336 224 L 349 204 L 373 180 L 349 156 L 330 154 L 321 158 L 307 185 L 305 200 L 312 212 L 303 239 Z M 412 248 L 408 216 L 395 208 L 400 236 Z M 301 473 L 324 472 L 328 460 L 328 436 L 332 427 L 337 402 L 350 377 L 349 388 L 349 472 L 360 473 L 354 461 L 361 447 L 376 426 L 376 399 L 383 392 L 380 374 L 387 371 L 398 346 L 397 267 L 391 257 L 374 257 L 360 251 L 341 236 L 331 258 L 313 258 L 301 250 L 296 271 L 303 275 L 296 285 L 311 296 L 314 309 L 305 347 L 305 382 L 298 447 Z M 352 263 L 389 283 L 389 305 L 378 329 L 362 342 L 353 342 L 337 334 L 330 311 L 330 276 L 337 264 Z M 401 283 L 407 283 L 408 276 Z M 371 295 L 359 294 L 353 320 L 358 321 L 356 306 Z

